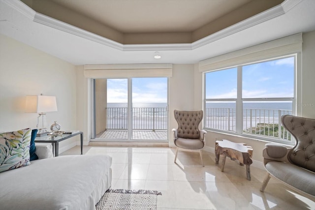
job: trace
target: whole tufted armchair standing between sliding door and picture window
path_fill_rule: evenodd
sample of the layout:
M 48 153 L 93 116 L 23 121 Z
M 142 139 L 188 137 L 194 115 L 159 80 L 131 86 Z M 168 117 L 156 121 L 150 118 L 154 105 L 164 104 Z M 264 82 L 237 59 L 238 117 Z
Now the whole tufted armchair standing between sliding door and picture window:
M 174 144 L 176 145 L 176 154 L 174 163 L 176 163 L 178 150 L 199 150 L 201 165 L 202 149 L 205 147 L 205 130 L 199 130 L 199 123 L 203 118 L 203 111 L 178 111 L 174 110 L 174 117 L 178 123 L 178 128 L 173 128 Z

